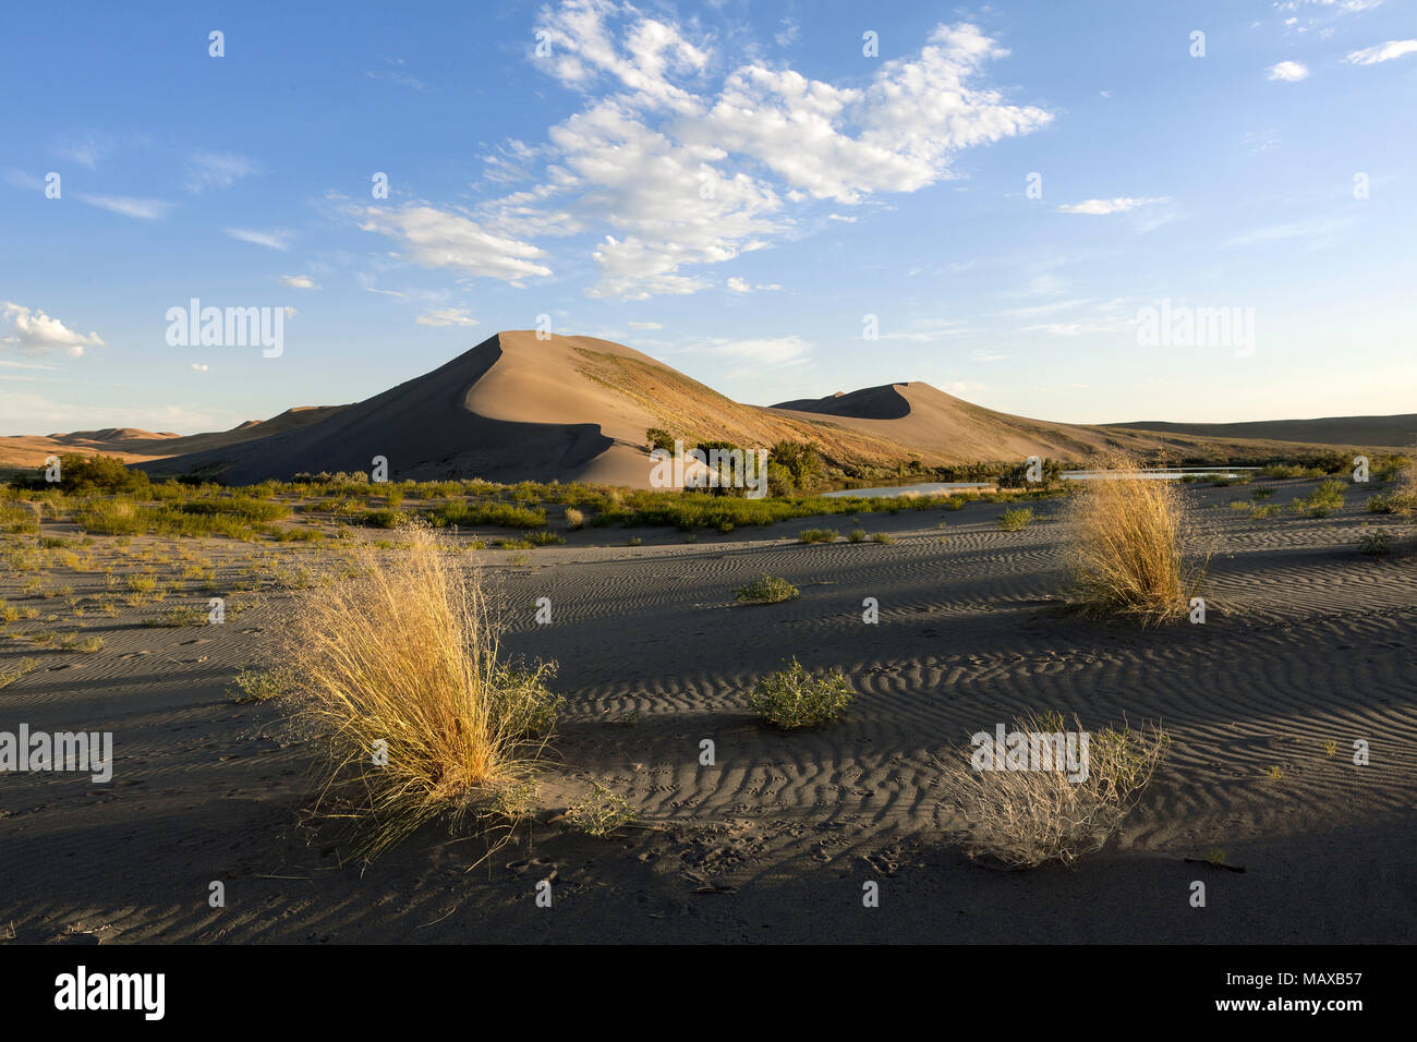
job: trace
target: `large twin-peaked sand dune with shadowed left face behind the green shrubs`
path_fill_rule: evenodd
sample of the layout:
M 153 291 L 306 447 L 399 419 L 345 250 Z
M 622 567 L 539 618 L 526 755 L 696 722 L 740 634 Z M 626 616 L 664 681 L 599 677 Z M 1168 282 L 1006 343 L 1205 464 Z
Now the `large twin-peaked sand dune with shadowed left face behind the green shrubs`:
M 791 408 L 788 407 L 791 405 Z M 815 445 L 832 459 L 894 465 L 1078 459 L 1108 449 L 1172 458 L 1284 455 L 1295 445 L 1050 424 L 972 405 L 922 383 L 822 401 L 744 405 L 623 344 L 587 336 L 497 333 L 432 373 L 298 431 L 143 464 L 153 474 L 228 483 L 298 472 L 368 471 L 394 479 L 598 481 L 649 488 L 645 431 Z M 1311 447 L 1318 449 L 1319 447 Z

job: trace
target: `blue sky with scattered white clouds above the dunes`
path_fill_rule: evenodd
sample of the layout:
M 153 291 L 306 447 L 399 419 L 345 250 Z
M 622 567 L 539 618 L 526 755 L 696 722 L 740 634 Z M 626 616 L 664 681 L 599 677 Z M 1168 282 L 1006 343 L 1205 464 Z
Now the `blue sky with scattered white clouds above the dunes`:
M 541 315 L 754 404 L 1417 410 L 1410 0 L 327 10 L 7 11 L 0 434 L 356 401 Z M 169 346 L 191 298 L 283 353 Z M 1161 301 L 1253 344 L 1145 346 Z

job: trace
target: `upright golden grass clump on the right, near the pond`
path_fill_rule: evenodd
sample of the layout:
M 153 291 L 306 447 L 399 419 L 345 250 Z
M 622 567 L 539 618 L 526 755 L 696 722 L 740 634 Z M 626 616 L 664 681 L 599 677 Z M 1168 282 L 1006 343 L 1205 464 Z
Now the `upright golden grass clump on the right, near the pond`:
M 1209 551 L 1190 527 L 1179 485 L 1110 461 L 1070 499 L 1066 554 L 1074 601 L 1101 614 L 1162 622 L 1186 614 Z

